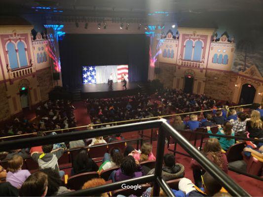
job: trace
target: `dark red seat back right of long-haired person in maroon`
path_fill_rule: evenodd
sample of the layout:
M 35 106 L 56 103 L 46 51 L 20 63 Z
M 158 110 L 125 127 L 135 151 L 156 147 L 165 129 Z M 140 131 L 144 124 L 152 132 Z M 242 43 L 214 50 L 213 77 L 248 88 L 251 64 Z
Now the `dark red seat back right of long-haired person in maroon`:
M 228 148 L 225 155 L 227 158 L 227 162 L 235 162 L 238 160 L 243 160 L 242 151 L 245 148 L 246 143 L 236 143 Z

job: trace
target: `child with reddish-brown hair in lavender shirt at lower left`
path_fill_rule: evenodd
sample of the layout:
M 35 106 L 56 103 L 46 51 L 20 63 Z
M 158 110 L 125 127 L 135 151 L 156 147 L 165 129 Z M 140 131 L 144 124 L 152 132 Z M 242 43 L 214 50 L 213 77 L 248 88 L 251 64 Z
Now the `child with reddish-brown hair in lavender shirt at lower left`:
M 22 169 L 22 165 L 23 158 L 19 155 L 14 155 L 8 160 L 6 181 L 17 189 L 21 188 L 24 181 L 31 175 L 27 169 Z

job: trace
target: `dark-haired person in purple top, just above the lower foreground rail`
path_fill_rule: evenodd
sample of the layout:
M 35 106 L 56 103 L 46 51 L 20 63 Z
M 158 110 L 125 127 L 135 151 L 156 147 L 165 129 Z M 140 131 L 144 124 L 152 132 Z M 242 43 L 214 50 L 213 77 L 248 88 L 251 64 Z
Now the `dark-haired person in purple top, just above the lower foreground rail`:
M 115 171 L 114 180 L 124 181 L 131 178 L 138 178 L 145 175 L 142 166 L 132 156 L 127 156 L 120 164 L 120 168 Z

